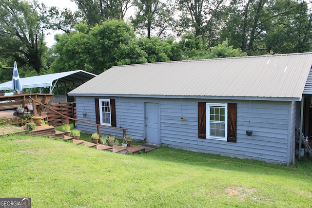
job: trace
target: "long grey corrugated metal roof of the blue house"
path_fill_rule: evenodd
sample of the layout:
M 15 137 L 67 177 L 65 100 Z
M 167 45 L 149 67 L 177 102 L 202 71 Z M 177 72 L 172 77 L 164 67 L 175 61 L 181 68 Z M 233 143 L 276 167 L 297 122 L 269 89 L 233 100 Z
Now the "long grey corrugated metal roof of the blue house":
M 163 95 L 301 99 L 312 53 L 116 66 L 71 95 Z

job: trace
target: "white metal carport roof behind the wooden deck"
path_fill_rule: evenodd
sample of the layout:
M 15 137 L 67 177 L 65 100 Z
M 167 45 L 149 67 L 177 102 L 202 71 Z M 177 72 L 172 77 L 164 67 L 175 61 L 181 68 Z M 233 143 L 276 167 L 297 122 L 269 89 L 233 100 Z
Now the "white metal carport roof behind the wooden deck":
M 84 82 L 92 79 L 97 75 L 83 70 L 76 70 L 70 72 L 60 72 L 49 75 L 31 76 L 20 78 L 20 82 L 23 89 L 27 88 L 50 88 L 50 93 L 54 87 L 78 87 Z M 12 81 L 4 82 L 0 84 L 0 90 L 11 90 Z

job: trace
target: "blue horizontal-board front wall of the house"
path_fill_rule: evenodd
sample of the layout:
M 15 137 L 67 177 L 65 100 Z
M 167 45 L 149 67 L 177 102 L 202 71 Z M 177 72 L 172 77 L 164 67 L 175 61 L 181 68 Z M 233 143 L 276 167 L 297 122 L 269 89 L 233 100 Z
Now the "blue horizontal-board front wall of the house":
M 95 123 L 96 97 L 76 97 L 77 118 Z M 98 97 L 113 98 L 113 97 Z M 117 127 L 127 128 L 127 134 L 143 140 L 144 102 L 157 102 L 160 108 L 161 145 L 189 151 L 200 151 L 239 158 L 259 159 L 266 162 L 292 161 L 292 134 L 298 125 L 298 102 L 197 100 L 115 97 Z M 197 137 L 197 102 L 237 103 L 237 142 L 199 139 Z M 87 117 L 82 112 L 88 113 Z M 299 114 L 298 114 L 299 113 Z M 185 118 L 180 121 L 179 118 Z M 246 135 L 250 121 L 252 136 Z M 83 132 L 96 132 L 96 126 L 78 122 Z M 122 131 L 101 128 L 101 133 L 122 137 Z

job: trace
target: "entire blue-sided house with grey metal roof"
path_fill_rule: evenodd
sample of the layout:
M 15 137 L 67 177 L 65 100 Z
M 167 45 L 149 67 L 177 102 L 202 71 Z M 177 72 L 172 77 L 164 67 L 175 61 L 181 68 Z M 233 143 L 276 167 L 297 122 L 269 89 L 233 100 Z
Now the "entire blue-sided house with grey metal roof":
M 116 66 L 69 95 L 78 119 L 127 128 L 135 139 L 289 165 L 295 127 L 312 133 L 311 66 L 312 53 Z

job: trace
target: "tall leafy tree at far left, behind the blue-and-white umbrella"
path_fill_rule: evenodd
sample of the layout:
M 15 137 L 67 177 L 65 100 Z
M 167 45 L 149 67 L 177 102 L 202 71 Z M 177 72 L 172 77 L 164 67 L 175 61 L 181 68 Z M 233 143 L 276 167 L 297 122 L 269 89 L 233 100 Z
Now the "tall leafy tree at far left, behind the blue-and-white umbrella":
M 28 64 L 43 73 L 43 59 L 47 51 L 44 42 L 44 16 L 37 10 L 44 5 L 24 0 L 0 1 L 0 56 L 14 57 L 20 66 Z

